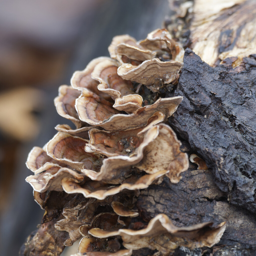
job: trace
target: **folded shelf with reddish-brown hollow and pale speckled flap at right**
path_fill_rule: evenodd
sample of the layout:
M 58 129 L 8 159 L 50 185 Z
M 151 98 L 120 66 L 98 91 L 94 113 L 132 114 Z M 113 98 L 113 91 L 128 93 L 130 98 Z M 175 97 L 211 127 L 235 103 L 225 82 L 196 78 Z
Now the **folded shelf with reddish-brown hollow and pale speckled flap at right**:
M 180 142 L 166 124 L 120 132 L 93 131 L 92 142 L 87 144 L 91 151 L 109 156 L 103 160 L 100 172 L 83 170 L 92 180 L 110 181 L 122 179 L 123 172 L 132 166 L 148 174 L 168 171 L 172 182 L 178 182 L 180 173 L 188 169 L 187 154 L 180 152 Z M 90 133 L 92 134 L 92 132 Z M 95 141 L 95 137 L 98 141 Z M 99 143 L 95 145 L 95 142 Z M 112 155 L 112 156 L 111 156 Z M 129 168 L 130 167 L 130 168 Z

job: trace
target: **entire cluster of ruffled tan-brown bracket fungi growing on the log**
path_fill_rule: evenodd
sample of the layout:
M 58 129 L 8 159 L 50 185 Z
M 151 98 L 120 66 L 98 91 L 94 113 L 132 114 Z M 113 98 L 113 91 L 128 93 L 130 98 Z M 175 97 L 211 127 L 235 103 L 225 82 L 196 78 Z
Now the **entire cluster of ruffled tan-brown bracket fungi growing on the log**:
M 28 156 L 34 175 L 26 181 L 45 215 L 24 255 L 60 255 L 81 237 L 76 256 L 129 256 L 143 248 L 172 255 L 179 246 L 213 246 L 225 223 L 176 227 L 164 214 L 148 222 L 135 206 L 140 189 L 165 176 L 178 183 L 188 169 L 187 154 L 165 124 L 183 98 L 159 92 L 177 80 L 184 49 L 157 29 L 139 42 L 114 37 L 109 52 L 111 58 L 92 60 L 73 74 L 71 86 L 59 88 L 57 112 L 76 129 L 56 126 L 46 146 Z

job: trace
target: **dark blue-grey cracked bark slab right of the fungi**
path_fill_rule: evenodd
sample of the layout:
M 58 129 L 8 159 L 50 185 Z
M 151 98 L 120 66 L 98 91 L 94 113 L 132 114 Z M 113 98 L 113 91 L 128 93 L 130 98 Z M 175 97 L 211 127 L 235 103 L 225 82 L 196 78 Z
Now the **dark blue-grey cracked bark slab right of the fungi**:
M 212 168 L 231 204 L 256 209 L 255 55 L 215 68 L 187 49 L 175 96 L 184 100 L 170 125 Z

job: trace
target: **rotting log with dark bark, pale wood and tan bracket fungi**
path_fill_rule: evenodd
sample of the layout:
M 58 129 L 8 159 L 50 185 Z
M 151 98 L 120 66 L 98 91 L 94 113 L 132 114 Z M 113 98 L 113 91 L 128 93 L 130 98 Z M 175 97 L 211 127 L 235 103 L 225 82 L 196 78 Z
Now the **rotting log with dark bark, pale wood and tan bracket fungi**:
M 256 2 L 169 2 L 60 87 L 76 129 L 28 156 L 45 214 L 19 255 L 256 253 Z

